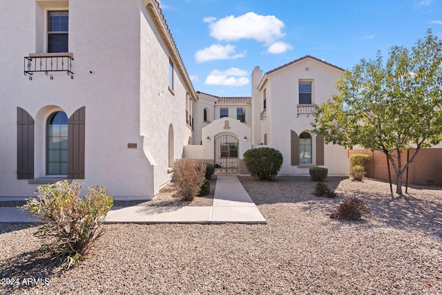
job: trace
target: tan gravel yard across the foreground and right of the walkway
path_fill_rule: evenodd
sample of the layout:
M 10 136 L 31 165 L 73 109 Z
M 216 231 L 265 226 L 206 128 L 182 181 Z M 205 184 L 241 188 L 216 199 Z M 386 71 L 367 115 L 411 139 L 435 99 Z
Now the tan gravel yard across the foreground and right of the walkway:
M 0 292 L 442 294 L 441 188 L 392 198 L 385 182 L 329 178 L 338 193 L 329 199 L 311 194 L 309 178 L 240 181 L 267 225 L 104 225 L 70 270 L 39 251 L 35 226 L 1 224 Z M 350 196 L 367 200 L 372 213 L 330 219 Z

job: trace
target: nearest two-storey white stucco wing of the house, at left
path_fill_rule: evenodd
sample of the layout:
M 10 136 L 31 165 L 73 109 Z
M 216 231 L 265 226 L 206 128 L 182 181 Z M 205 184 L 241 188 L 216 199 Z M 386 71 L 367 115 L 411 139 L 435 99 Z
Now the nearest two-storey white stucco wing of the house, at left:
M 155 196 L 197 99 L 157 0 L 1 1 L 0 22 L 0 196 L 60 179 Z

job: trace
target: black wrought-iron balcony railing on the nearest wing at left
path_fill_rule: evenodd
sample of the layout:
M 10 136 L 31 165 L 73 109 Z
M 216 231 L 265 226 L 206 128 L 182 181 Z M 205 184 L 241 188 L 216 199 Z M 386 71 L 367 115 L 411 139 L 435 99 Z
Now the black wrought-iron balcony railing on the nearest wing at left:
M 72 71 L 72 61 L 74 60 L 72 53 L 40 53 L 32 54 L 24 57 L 23 74 L 32 80 L 34 73 L 43 72 L 49 79 L 54 79 L 50 73 L 66 72 L 70 79 L 74 79 Z

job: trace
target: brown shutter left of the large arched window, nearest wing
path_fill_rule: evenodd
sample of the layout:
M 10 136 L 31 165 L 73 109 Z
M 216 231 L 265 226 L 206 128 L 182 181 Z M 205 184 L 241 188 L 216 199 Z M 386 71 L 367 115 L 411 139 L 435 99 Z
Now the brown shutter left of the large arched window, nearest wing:
M 17 107 L 17 179 L 34 179 L 34 119 Z

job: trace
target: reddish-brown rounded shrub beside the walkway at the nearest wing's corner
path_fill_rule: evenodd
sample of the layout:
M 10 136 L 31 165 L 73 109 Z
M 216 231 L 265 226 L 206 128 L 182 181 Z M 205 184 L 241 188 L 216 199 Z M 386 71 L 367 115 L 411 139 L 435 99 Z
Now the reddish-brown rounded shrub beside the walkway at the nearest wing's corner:
M 178 193 L 183 200 L 191 201 L 200 191 L 206 179 L 206 164 L 194 159 L 179 159 L 173 163 L 173 175 L 178 186 Z

